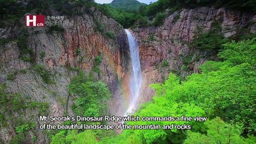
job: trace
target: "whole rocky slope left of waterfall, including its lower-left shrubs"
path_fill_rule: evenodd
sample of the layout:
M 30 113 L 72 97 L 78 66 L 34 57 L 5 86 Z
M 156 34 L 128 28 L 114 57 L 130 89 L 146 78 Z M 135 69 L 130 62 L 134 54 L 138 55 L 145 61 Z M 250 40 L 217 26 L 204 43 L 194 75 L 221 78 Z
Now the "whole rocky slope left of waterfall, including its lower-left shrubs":
M 68 86 L 78 71 L 91 73 L 119 97 L 121 92 L 115 89 L 125 75 L 124 56 L 129 55 L 126 33 L 96 8 L 82 13 L 64 15 L 67 25 L 62 26 L 32 28 L 18 23 L 13 29 L 0 29 L 0 143 L 33 143 L 33 137 L 36 143 L 49 143 L 48 132 L 38 128 L 44 124 L 38 117 L 73 115 L 70 104 L 76 103 L 76 96 L 69 94 Z

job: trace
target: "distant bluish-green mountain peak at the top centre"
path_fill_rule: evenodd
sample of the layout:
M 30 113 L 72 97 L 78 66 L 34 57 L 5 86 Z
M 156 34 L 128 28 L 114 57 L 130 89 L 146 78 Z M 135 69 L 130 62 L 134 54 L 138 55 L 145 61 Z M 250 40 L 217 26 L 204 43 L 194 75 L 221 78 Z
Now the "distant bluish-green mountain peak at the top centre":
M 136 0 L 114 0 L 110 4 L 112 7 L 120 8 L 122 10 L 139 10 L 139 7 L 147 4 L 141 3 Z

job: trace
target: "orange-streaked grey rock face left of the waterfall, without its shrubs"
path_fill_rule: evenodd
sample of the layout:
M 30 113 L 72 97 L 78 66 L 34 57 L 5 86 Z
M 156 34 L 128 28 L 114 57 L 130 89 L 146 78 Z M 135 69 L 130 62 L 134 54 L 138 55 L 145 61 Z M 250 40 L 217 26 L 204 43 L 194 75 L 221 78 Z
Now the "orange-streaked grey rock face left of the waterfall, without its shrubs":
M 111 113 L 124 113 L 120 82 L 126 77 L 129 62 L 127 36 L 123 27 L 113 19 L 94 8 L 90 11 L 91 14 L 65 17 L 64 31 L 50 31 L 49 26 L 26 27 L 26 46 L 32 51 L 30 62 L 20 59 L 20 47 L 16 41 L 0 46 L 0 82 L 7 86 L 6 91 L 11 94 L 19 93 L 31 98 L 31 101 L 49 103 L 49 115 L 73 115 L 70 108 L 73 96 L 69 95 L 67 89 L 70 80 L 78 74 L 77 68 L 85 73 L 93 70 L 95 59 L 100 57 L 101 72 L 95 74 L 111 89 Z M 24 25 L 24 21 L 20 21 L 21 25 Z M 0 38 L 19 35 L 20 29 L 20 26 L 1 28 Z M 8 79 L 10 74 L 13 76 L 11 80 Z M 50 82 L 45 82 L 46 75 Z M 38 121 L 37 116 L 32 116 L 35 113 L 37 112 L 32 111 L 22 115 L 27 121 L 37 124 L 34 133 L 27 136 L 28 143 L 35 136 L 37 143 L 48 143 L 45 131 L 38 129 L 38 125 L 43 122 Z M 6 127 L 1 128 L 0 139 L 8 143 L 14 135 L 15 126 L 9 121 Z

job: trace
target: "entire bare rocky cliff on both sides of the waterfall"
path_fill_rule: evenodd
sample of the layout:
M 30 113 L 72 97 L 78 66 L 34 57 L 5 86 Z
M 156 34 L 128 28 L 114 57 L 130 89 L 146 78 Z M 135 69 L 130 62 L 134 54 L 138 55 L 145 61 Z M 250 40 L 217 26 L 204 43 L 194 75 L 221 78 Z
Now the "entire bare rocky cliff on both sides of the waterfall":
M 67 89 L 70 81 L 78 75 L 78 69 L 87 74 L 94 71 L 94 77 L 103 80 L 112 92 L 110 113 L 123 115 L 129 101 L 130 54 L 126 33 L 121 25 L 94 8 L 81 11 L 80 16 L 65 17 L 61 28 L 24 27 L 23 18 L 20 23 L 0 28 L 1 40 L 7 40 L 0 43 L 0 92 L 47 103 L 47 115 L 74 115 L 70 108 L 74 96 Z M 58 13 L 53 11 L 52 15 Z M 218 50 L 198 49 L 192 44 L 195 37 L 211 31 L 216 22 L 226 38 L 239 34 L 238 29 L 256 31 L 256 16 L 213 7 L 175 11 L 168 14 L 162 26 L 130 29 L 139 41 L 143 79 L 140 102 L 153 96 L 148 85 L 163 82 L 170 72 L 188 76 L 199 73 L 198 67 L 205 61 L 218 59 Z M 25 39 L 18 38 L 20 35 Z M 100 71 L 96 68 L 99 59 Z M 38 121 L 40 110 L 36 108 L 41 107 L 40 103 L 33 103 L 32 109 L 10 112 L 6 124 L 0 124 L 0 143 L 17 136 L 14 121 L 20 119 L 35 123 L 25 143 L 49 143 L 49 131 L 38 128 L 45 124 Z

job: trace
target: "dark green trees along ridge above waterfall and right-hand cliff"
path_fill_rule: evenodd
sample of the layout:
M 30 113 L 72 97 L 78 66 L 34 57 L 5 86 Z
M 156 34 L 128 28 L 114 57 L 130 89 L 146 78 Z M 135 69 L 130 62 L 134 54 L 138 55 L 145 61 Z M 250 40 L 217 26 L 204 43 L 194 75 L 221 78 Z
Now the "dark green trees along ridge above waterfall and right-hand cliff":
M 234 10 L 248 11 L 249 13 L 256 13 L 256 1 L 246 0 L 246 1 L 177 1 L 177 0 L 158 0 L 150 5 L 142 5 L 139 7 L 138 11 L 130 11 L 125 8 L 113 8 L 106 5 L 106 11 L 108 11 L 109 16 L 115 19 L 118 23 L 124 26 L 124 28 L 129 28 L 132 26 L 159 26 L 162 25 L 164 15 L 159 15 L 159 13 L 166 13 L 166 9 L 169 11 L 168 14 L 174 13 L 174 11 L 180 10 L 181 8 L 196 8 L 205 6 L 215 6 L 231 8 Z

